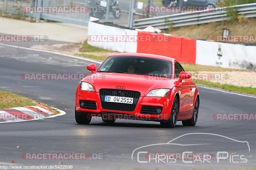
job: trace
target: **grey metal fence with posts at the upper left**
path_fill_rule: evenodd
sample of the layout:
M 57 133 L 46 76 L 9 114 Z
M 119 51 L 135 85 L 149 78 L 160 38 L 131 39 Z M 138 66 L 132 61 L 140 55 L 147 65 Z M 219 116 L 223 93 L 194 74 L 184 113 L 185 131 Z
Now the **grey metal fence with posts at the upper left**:
M 101 1 L 105 1 L 105 11 L 100 15 L 95 14 L 98 11 L 91 10 L 92 7 L 100 6 Z M 134 19 L 133 11 L 136 0 L 118 0 L 116 5 L 120 9 L 120 17 L 115 17 L 112 9 L 114 1 L 117 0 L 0 0 L 0 15 L 1 12 L 4 15 L 9 14 L 25 14 L 27 17 L 31 17 L 34 20 L 52 20 L 66 23 L 73 23 L 79 25 L 88 25 L 90 16 L 99 18 L 102 22 L 113 22 L 114 24 L 130 26 Z M 132 5 L 133 3 L 133 5 Z M 132 6 L 131 6 L 132 5 Z M 85 6 L 90 8 L 90 12 L 77 12 L 77 13 L 61 13 L 61 12 L 42 12 L 42 13 L 24 13 L 21 8 L 24 6 L 48 6 L 48 7 L 79 7 Z M 92 12 L 91 12 L 92 11 Z M 135 19 L 138 17 L 135 16 Z

